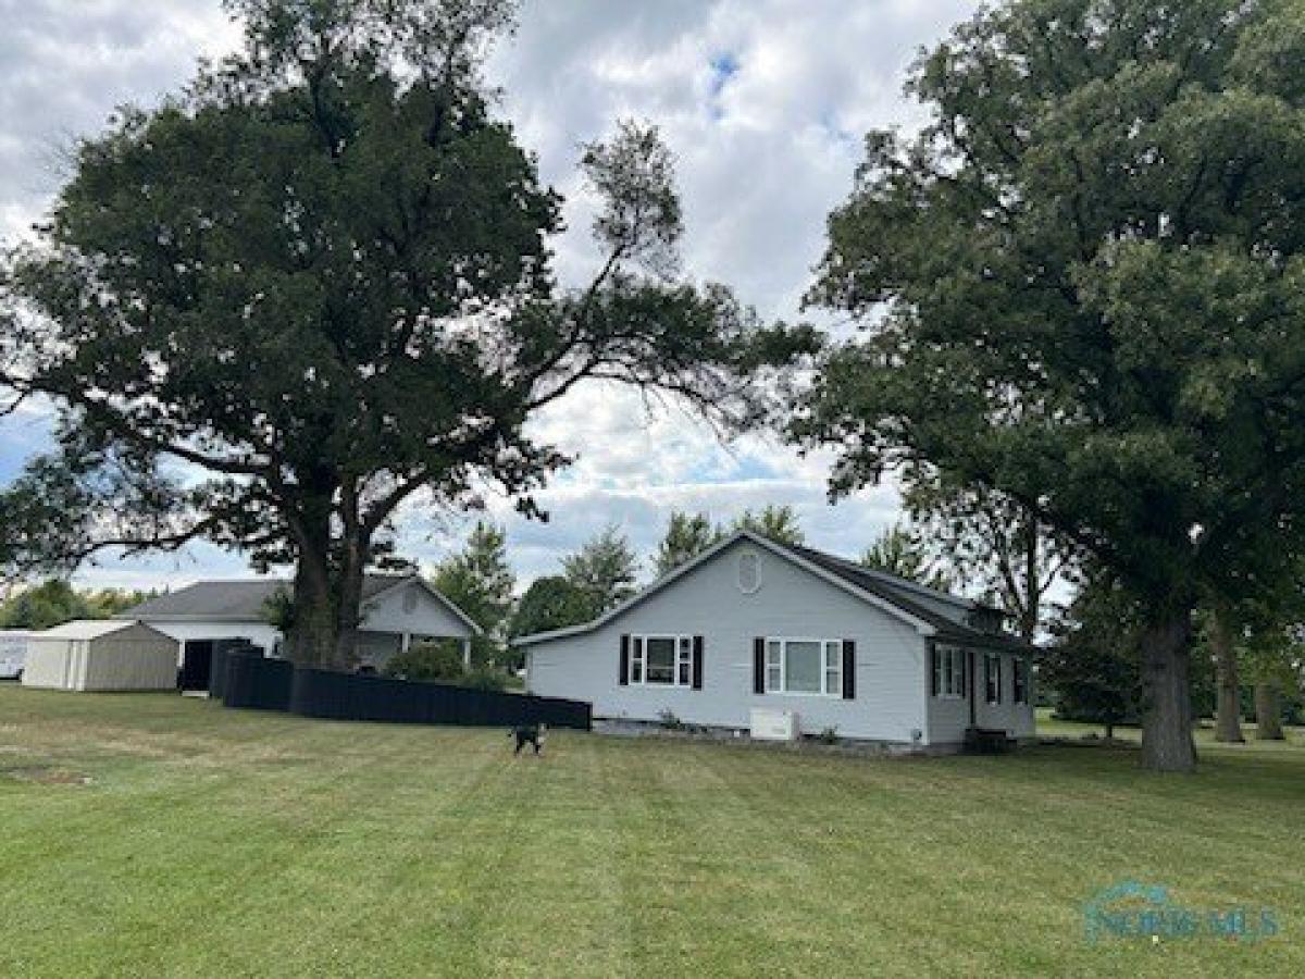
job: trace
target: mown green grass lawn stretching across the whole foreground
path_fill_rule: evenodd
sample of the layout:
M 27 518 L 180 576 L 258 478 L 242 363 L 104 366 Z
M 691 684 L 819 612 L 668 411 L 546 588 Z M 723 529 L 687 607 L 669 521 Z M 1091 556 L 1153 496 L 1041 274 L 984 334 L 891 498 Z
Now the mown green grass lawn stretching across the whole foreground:
M 89 781 L 87 781 L 89 779 Z M 0 687 L 0 975 L 1305 975 L 1305 747 L 861 758 Z M 1282 933 L 1084 939 L 1125 878 Z

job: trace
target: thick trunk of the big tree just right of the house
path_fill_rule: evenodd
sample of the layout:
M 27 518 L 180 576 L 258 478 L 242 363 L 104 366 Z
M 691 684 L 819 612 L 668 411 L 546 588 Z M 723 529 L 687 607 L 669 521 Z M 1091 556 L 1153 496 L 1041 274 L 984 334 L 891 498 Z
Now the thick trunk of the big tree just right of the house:
M 1154 771 L 1195 771 L 1191 740 L 1191 607 L 1180 604 L 1142 633 L 1142 766 Z

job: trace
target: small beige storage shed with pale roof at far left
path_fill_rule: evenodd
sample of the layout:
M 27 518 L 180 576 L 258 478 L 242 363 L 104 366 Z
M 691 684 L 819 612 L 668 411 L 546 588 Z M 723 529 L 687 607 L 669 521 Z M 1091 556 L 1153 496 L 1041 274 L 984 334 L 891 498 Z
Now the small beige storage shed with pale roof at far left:
M 77 619 L 27 640 L 23 687 L 176 689 L 176 640 L 144 623 Z

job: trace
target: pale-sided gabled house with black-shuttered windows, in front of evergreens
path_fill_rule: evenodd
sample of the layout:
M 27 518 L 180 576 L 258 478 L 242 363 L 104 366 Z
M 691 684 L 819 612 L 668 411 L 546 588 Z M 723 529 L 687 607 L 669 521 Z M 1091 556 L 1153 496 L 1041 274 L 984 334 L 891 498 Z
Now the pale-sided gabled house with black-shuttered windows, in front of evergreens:
M 518 640 L 531 693 L 595 718 L 953 749 L 968 728 L 1034 736 L 1032 647 L 1002 614 L 739 531 L 586 625 Z

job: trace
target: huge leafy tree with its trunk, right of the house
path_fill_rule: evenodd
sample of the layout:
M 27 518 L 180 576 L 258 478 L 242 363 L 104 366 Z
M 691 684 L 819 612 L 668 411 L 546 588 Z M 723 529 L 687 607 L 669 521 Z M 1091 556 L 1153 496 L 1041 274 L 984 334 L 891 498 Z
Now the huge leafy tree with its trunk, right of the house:
M 813 300 L 864 333 L 795 437 L 835 491 L 1000 492 L 1142 604 L 1143 764 L 1190 770 L 1191 611 L 1285 573 L 1305 470 L 1305 5 L 1011 0 L 874 132 Z

